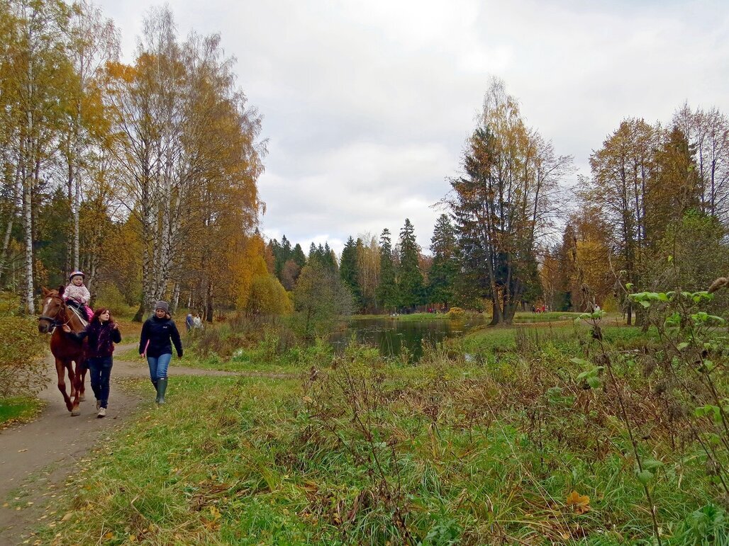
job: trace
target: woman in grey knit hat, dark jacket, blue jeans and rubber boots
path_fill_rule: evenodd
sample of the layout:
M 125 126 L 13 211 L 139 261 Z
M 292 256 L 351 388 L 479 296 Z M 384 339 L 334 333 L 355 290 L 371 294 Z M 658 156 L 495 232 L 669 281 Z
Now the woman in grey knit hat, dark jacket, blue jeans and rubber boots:
M 172 360 L 172 344 L 177 350 L 177 357 L 182 358 L 180 334 L 169 313 L 170 306 L 167 302 L 157 301 L 155 314 L 145 321 L 139 338 L 139 354 L 147 357 L 149 379 L 157 390 L 155 402 L 158 404 L 165 403 L 167 368 Z

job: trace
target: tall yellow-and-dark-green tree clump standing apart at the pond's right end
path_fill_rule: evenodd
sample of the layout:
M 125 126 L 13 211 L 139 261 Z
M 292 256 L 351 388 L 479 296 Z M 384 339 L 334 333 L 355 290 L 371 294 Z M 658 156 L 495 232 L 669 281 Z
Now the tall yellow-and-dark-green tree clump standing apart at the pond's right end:
M 537 282 L 537 247 L 555 215 L 555 193 L 572 158 L 524 123 L 502 82 L 491 84 L 480 124 L 451 180 L 464 288 L 491 300 L 492 324 L 511 323 Z

